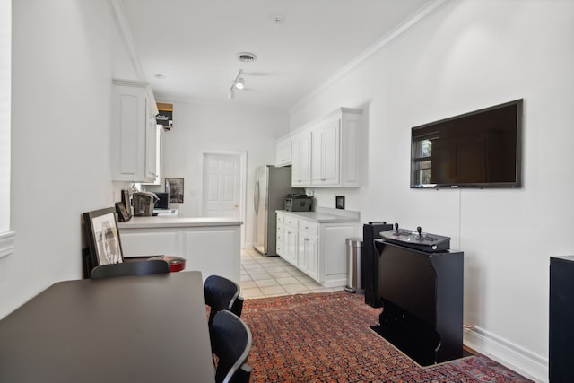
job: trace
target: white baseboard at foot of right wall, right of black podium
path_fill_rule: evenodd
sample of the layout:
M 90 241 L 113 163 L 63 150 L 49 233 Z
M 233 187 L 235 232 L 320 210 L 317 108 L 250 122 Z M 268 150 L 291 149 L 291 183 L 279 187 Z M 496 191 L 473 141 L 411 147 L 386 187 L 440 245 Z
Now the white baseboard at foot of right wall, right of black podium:
M 465 329 L 464 343 L 535 382 L 548 382 L 548 359 L 480 327 Z

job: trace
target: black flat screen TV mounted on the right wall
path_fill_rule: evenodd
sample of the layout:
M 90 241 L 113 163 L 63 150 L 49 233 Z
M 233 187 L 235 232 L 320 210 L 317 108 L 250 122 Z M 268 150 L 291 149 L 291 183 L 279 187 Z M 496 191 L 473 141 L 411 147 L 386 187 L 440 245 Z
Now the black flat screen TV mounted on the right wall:
M 522 99 L 411 134 L 411 187 L 522 187 Z

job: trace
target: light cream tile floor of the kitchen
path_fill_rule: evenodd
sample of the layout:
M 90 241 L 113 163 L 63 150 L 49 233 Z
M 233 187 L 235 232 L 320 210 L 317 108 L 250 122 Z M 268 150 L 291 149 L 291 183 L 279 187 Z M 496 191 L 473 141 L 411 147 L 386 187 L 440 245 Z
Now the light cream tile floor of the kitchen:
M 337 290 L 343 287 L 323 287 L 282 257 L 263 257 L 252 249 L 241 251 L 241 296 L 245 299 Z

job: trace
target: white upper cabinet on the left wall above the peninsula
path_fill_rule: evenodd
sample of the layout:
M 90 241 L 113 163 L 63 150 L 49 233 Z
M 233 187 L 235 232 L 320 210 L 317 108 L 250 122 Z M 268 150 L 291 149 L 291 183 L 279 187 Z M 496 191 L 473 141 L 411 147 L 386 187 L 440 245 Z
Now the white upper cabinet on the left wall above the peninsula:
M 112 180 L 153 182 L 157 169 L 155 101 L 146 83 L 114 80 L 111 128 Z

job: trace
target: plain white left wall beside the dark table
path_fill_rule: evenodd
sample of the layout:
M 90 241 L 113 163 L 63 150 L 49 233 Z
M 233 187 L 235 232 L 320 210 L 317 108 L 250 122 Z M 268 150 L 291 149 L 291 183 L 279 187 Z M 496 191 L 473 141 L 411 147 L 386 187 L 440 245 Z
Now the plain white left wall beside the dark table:
M 113 205 L 111 79 L 126 67 L 112 55 L 119 41 L 106 0 L 13 2 L 16 237 L 14 253 L 0 258 L 0 318 L 48 285 L 82 277 L 81 214 Z

